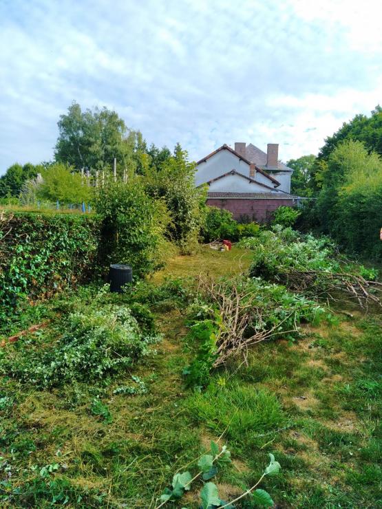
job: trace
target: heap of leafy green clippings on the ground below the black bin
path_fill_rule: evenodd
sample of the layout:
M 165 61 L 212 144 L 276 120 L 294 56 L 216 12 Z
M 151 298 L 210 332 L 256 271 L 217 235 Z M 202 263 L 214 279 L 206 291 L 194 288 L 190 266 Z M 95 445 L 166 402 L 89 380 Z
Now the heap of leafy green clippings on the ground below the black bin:
M 159 336 L 142 334 L 128 307 L 103 305 L 105 292 L 107 285 L 92 305 L 78 303 L 54 343 L 23 341 L 9 347 L 1 373 L 36 387 L 57 387 L 73 380 L 102 380 L 149 354 Z

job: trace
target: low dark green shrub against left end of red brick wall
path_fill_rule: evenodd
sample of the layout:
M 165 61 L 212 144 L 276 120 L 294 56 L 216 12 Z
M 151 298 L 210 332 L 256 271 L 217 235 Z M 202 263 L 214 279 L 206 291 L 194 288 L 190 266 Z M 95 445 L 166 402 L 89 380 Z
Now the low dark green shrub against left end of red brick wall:
M 237 223 L 229 210 L 206 207 L 206 218 L 201 230 L 204 242 L 217 239 L 237 241 L 244 237 L 253 237 L 258 231 L 259 225 L 257 223 Z

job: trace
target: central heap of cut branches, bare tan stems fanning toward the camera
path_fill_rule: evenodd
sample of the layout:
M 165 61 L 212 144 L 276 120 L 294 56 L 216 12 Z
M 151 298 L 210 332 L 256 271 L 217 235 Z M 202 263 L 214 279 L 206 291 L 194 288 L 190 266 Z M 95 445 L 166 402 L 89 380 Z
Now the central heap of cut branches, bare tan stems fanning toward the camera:
M 314 301 L 256 278 L 214 281 L 200 277 L 198 294 L 211 306 L 211 316 L 213 310 L 220 316 L 213 367 L 233 354 L 242 354 L 246 360 L 248 347 L 262 341 L 293 338 L 301 322 L 312 322 L 324 313 Z

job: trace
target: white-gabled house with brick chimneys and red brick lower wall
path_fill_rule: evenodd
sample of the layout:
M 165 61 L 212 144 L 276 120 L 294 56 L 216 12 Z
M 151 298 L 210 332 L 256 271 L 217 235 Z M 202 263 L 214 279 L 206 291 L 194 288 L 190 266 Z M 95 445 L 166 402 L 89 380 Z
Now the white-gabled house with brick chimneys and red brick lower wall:
M 195 185 L 207 184 L 207 205 L 231 210 L 235 219 L 264 222 L 279 206 L 295 206 L 290 194 L 293 173 L 279 162 L 279 145 L 268 143 L 267 152 L 252 143 L 222 145 L 198 161 Z

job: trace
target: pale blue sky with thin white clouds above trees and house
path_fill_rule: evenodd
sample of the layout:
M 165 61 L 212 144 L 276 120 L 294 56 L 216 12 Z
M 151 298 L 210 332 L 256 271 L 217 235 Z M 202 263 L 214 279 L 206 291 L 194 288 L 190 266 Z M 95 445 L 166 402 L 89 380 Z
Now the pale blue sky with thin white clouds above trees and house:
M 380 0 L 0 0 L 0 174 L 52 160 L 73 100 L 193 160 L 287 161 L 382 102 Z

